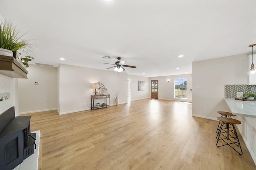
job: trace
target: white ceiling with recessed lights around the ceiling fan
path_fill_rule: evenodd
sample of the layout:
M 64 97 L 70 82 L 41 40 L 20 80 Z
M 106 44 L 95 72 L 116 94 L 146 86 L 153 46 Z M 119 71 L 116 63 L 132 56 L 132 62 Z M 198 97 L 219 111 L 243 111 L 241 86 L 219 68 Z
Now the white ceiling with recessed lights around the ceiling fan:
M 122 57 L 146 77 L 192 73 L 193 61 L 256 43 L 256 0 L 1 0 L 0 14 L 29 31 L 35 63 L 106 69 Z

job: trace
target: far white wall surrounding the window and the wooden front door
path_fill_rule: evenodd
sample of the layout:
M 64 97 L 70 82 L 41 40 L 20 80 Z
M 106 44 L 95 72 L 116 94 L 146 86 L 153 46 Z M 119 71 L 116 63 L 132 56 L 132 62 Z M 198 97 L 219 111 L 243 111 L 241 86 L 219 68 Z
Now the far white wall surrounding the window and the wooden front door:
M 174 98 L 174 87 L 175 87 L 174 80 L 178 78 L 187 79 L 187 98 L 186 99 Z M 190 88 L 192 88 L 191 74 L 151 77 L 150 81 L 151 80 L 158 80 L 158 99 L 192 102 L 192 92 L 190 91 Z M 167 82 L 167 80 L 170 80 L 170 82 Z

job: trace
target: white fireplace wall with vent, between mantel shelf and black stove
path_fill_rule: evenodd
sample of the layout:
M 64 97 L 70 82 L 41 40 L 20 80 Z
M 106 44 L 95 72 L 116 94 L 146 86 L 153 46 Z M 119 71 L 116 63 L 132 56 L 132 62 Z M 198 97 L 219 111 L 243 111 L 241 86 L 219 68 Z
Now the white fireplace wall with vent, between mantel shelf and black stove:
M 16 91 L 16 78 L 11 78 L 0 74 L 0 98 L 2 96 L 6 96 L 6 94 L 8 96 L 7 100 L 0 101 L 0 114 L 14 106 L 15 115 L 18 115 L 18 107 L 16 106 Z

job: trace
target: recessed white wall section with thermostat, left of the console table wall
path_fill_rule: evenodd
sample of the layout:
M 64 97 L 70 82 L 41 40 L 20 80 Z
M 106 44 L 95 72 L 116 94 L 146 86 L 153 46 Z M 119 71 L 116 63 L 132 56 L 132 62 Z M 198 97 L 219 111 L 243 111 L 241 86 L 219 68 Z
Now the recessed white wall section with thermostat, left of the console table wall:
M 30 64 L 27 70 L 28 79 L 18 79 L 19 114 L 56 109 L 57 68 Z

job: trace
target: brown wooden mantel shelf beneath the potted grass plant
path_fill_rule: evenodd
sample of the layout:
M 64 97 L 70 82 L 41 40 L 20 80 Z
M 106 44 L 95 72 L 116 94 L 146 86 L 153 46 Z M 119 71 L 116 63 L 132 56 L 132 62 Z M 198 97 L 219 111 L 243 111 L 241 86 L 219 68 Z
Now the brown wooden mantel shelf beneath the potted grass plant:
M 28 71 L 14 57 L 0 55 L 0 74 L 12 78 L 27 78 Z

